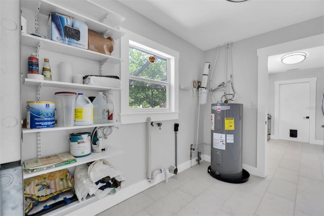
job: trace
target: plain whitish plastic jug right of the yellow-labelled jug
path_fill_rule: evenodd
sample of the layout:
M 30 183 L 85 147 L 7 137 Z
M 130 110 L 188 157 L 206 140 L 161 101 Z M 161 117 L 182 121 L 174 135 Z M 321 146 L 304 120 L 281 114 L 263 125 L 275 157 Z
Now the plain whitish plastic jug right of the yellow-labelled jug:
M 93 104 L 93 120 L 95 124 L 108 123 L 107 100 L 102 92 L 98 92 Z

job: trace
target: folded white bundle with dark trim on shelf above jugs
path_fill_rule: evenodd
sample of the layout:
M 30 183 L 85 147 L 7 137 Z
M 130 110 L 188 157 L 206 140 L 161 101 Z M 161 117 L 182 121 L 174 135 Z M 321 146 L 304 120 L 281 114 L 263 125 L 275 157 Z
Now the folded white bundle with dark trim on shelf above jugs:
M 120 87 L 120 80 L 117 76 L 95 76 L 87 75 L 83 77 L 83 83 L 86 85 Z

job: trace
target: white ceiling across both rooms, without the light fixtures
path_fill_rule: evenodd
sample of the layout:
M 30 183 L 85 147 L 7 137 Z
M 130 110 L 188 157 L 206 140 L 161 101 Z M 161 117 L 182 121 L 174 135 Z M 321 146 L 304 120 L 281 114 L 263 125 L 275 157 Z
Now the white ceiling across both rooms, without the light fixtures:
M 323 0 L 118 1 L 203 51 L 324 16 Z M 304 52 L 307 58 L 298 64 L 281 63 L 284 54 L 269 57 L 269 73 L 324 66 L 323 47 Z

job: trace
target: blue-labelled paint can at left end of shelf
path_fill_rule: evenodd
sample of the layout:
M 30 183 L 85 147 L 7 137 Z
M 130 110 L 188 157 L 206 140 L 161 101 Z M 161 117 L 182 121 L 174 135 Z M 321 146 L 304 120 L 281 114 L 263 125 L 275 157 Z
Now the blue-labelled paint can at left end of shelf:
M 27 101 L 27 128 L 55 126 L 55 102 Z

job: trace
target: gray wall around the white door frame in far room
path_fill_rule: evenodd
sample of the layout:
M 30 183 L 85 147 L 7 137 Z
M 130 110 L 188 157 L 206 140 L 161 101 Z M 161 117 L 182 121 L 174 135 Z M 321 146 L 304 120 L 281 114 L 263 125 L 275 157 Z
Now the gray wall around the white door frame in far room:
M 268 113 L 274 119 L 274 82 L 291 79 L 305 79 L 317 77 L 316 82 L 316 117 L 315 117 L 315 139 L 323 138 L 323 129 L 320 127 L 324 122 L 324 116 L 320 110 L 320 101 L 324 93 L 324 67 L 311 68 L 305 70 L 289 71 L 285 73 L 269 74 L 268 85 Z M 271 134 L 273 134 L 274 124 L 271 124 Z

